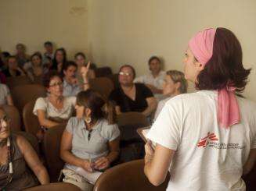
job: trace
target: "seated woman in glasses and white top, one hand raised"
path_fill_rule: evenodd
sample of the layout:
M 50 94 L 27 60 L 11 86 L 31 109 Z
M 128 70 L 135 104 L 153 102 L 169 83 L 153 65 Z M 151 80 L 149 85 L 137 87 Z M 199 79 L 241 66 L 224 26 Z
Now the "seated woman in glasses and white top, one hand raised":
M 89 65 L 81 68 L 84 80 L 83 90 L 87 90 L 89 87 L 87 79 Z M 66 122 L 71 117 L 76 97 L 63 96 L 63 79 L 57 71 L 46 73 L 43 76 L 43 85 L 48 91 L 48 96 L 37 99 L 33 112 L 38 116 L 41 127 L 45 129 Z

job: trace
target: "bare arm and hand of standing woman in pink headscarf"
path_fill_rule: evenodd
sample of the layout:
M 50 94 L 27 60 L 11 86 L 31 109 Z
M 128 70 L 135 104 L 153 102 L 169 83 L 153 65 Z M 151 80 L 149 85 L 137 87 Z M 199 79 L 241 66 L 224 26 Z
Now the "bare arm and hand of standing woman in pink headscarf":
M 157 144 L 155 150 L 153 150 L 151 143 L 148 142 L 145 145 L 145 152 L 145 175 L 154 186 L 159 186 L 168 174 L 175 150 L 168 149 L 160 144 Z

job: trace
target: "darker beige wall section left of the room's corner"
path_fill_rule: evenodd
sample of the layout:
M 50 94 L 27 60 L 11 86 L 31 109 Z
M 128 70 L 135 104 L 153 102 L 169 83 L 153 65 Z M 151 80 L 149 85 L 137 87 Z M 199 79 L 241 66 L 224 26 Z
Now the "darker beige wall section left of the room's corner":
M 27 51 L 43 51 L 45 41 L 57 47 L 88 51 L 88 8 L 86 0 L 1 0 L 2 51 L 14 52 L 17 42 Z

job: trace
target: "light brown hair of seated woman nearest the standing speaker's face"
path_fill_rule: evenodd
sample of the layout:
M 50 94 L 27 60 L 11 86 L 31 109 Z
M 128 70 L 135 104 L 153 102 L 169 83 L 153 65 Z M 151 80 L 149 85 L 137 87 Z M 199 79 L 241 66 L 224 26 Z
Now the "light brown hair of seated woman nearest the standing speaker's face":
M 188 89 L 188 82 L 185 79 L 184 73 L 178 71 L 178 70 L 169 70 L 166 72 L 166 75 L 171 77 L 171 80 L 174 83 L 180 83 L 180 87 L 178 87 L 178 91 L 181 94 L 186 94 Z

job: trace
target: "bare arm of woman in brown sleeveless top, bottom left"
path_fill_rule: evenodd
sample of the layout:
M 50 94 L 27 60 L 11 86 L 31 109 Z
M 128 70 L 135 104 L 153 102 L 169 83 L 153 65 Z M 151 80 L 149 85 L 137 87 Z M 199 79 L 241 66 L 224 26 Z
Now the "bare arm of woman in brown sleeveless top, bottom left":
M 46 171 L 46 168 L 41 164 L 41 161 L 38 158 L 38 154 L 36 154 L 31 144 L 28 143 L 27 140 L 23 138 L 23 136 L 17 136 L 16 141 L 25 161 L 27 162 L 27 165 L 34 172 L 34 175 L 37 176 L 39 182 L 42 185 L 48 184 L 50 182 L 48 172 Z

